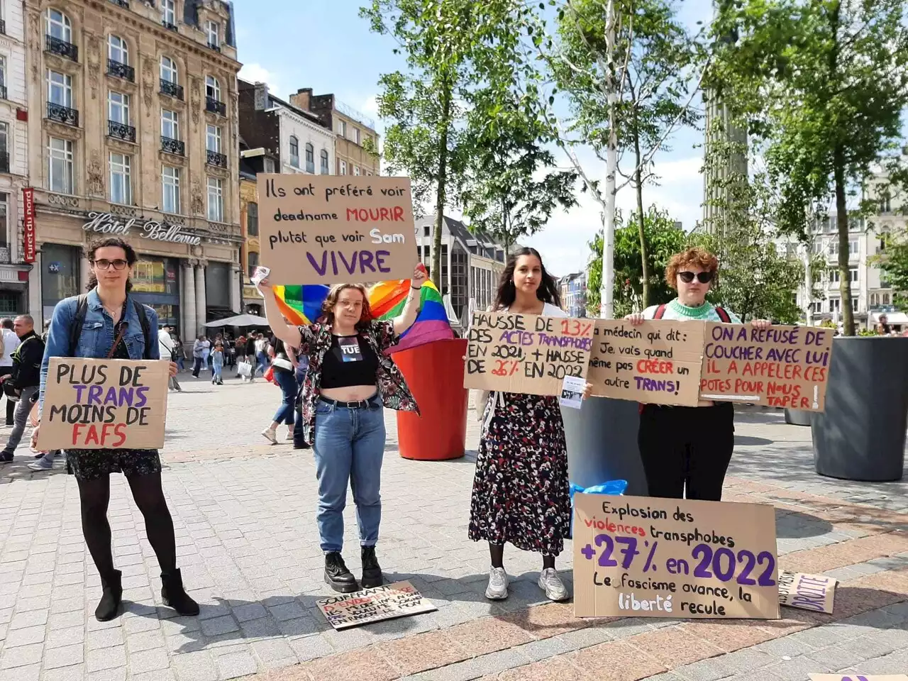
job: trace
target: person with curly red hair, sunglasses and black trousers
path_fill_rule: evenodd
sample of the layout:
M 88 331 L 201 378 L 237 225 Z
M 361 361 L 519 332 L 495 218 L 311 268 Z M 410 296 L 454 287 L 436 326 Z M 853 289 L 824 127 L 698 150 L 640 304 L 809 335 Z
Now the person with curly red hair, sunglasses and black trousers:
M 629 314 L 644 320 L 721 321 L 740 324 L 734 312 L 706 301 L 716 284 L 719 261 L 702 248 L 676 253 L 666 266 L 666 282 L 677 297 Z M 751 324 L 765 329 L 769 322 Z M 725 471 L 735 449 L 735 410 L 731 402 L 700 400 L 696 407 L 646 404 L 640 411 L 637 445 L 650 497 L 722 499 Z

